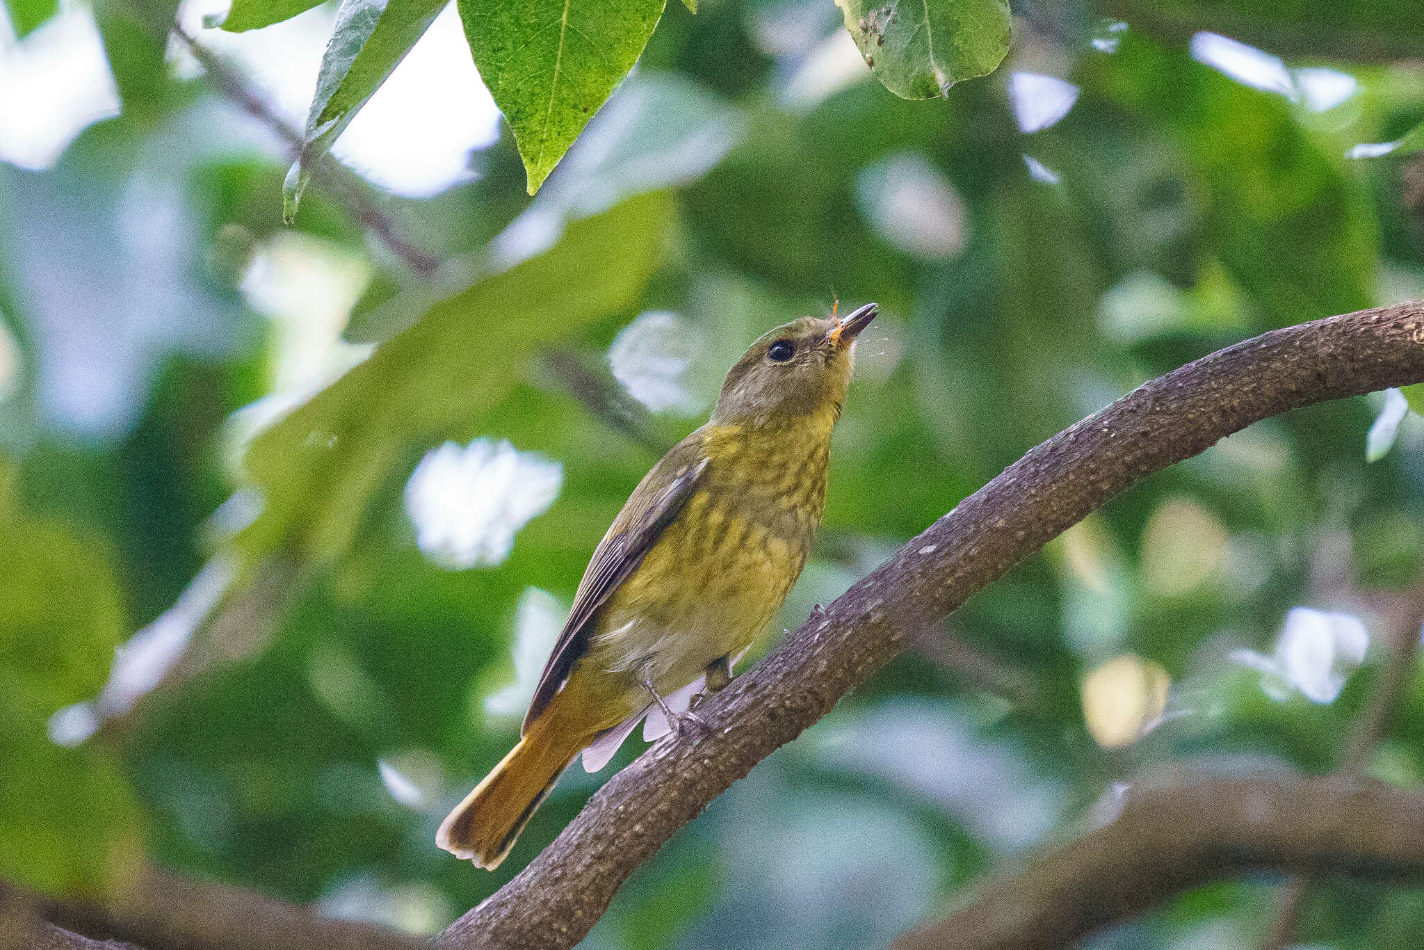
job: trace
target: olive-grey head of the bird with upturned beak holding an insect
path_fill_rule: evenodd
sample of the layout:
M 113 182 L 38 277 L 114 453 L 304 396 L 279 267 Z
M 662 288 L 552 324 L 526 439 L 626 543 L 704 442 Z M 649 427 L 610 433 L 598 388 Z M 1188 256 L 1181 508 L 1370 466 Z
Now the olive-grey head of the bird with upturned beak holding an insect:
M 846 318 L 803 316 L 778 326 L 736 362 L 722 383 L 712 422 L 760 426 L 840 414 L 854 372 L 856 336 L 876 319 L 866 303 Z

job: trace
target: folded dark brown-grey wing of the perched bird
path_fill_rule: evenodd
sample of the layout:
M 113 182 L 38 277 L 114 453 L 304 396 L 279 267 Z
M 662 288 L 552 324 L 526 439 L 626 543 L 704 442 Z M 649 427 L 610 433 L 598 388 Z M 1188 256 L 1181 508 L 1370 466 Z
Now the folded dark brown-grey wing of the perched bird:
M 530 724 L 544 712 L 568 678 L 574 661 L 588 649 L 590 621 L 598 608 L 619 584 L 628 580 L 662 530 L 672 524 L 682 506 L 692 497 L 698 480 L 708 467 L 708 459 L 701 454 L 701 447 L 698 440 L 686 439 L 664 456 L 644 476 L 622 511 L 614 518 L 608 534 L 598 543 L 588 570 L 584 571 L 584 580 L 578 584 L 574 608 L 568 614 L 564 631 L 544 665 L 521 732 L 527 732 Z

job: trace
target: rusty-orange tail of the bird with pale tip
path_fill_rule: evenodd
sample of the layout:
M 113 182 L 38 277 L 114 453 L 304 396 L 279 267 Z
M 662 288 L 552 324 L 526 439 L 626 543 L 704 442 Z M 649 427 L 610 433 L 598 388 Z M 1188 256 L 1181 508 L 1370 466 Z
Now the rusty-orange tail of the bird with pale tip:
M 464 796 L 436 833 L 436 845 L 490 870 L 500 866 L 590 736 L 561 728 L 547 709 L 510 753 Z

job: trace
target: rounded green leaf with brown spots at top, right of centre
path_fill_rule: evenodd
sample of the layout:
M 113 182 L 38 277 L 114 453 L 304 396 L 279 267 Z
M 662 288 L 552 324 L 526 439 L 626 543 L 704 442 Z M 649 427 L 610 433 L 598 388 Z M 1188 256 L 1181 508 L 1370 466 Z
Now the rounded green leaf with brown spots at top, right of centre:
M 876 78 L 901 98 L 947 95 L 1008 53 L 1007 0 L 836 0 Z

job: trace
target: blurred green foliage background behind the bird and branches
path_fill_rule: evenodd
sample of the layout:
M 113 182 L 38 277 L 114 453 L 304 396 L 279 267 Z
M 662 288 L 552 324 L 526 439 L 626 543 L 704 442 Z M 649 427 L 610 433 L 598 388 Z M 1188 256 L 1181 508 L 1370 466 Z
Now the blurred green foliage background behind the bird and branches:
M 285 50 L 347 21 L 288 20 L 305 6 L 239 0 L 225 28 Z M 1413 0 L 1025 4 L 1004 66 L 930 101 L 876 83 L 829 1 L 701 7 L 638 20 L 637 73 L 551 140 L 578 134 L 534 198 L 508 127 L 429 198 L 352 177 L 444 261 L 429 281 L 320 178 L 283 229 L 295 155 L 169 54 L 171 9 L 95 10 L 120 114 L 0 165 L 0 875 L 93 892 L 148 860 L 416 930 L 473 906 L 601 781 L 570 771 L 494 875 L 433 846 L 514 742 L 520 674 L 648 446 L 748 340 L 837 296 L 884 316 L 775 630 L 1142 380 L 1424 296 Z M 414 4 L 343 9 L 420 33 L 387 24 Z M 0 67 L 74 16 L 7 10 L 26 40 Z M 325 50 L 318 151 L 404 53 L 372 43 Z M 1114 501 L 953 621 L 1032 708 L 906 654 L 684 829 L 588 946 L 879 946 L 1139 768 L 1334 768 L 1380 679 L 1367 594 L 1420 570 L 1413 396 L 1267 420 Z M 426 453 L 476 439 L 513 450 L 447 451 L 413 497 Z M 486 457 L 504 467 L 460 467 Z M 431 504 L 446 521 L 414 524 Z M 503 563 L 451 564 L 496 528 Z M 1415 675 L 1370 768 L 1415 785 L 1421 748 Z M 1421 909 L 1321 886 L 1302 937 L 1408 946 Z M 1092 946 L 1255 947 L 1273 914 L 1270 882 L 1226 882 Z

